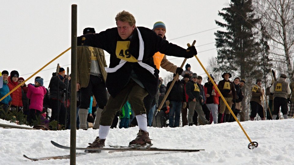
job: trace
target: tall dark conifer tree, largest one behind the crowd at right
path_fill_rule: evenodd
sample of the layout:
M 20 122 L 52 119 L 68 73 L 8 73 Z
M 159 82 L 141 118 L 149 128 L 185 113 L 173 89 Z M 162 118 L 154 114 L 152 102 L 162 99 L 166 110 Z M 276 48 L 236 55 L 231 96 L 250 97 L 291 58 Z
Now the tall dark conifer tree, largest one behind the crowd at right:
M 216 24 L 226 29 L 217 31 L 216 47 L 217 61 L 220 65 L 218 71 L 230 71 L 242 79 L 247 77 L 261 77 L 257 72 L 259 42 L 251 0 L 231 0 L 229 6 L 218 13 L 226 23 L 215 20 Z M 250 22 L 250 23 L 248 23 Z

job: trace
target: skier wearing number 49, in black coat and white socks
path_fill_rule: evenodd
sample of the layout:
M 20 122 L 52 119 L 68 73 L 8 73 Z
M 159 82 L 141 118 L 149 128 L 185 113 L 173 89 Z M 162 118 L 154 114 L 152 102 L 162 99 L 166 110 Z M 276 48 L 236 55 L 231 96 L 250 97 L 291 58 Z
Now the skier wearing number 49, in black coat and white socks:
M 147 132 L 147 116 L 143 99 L 148 94 L 155 96 L 158 71 L 154 65 L 156 52 L 170 56 L 191 58 L 197 54 L 194 46 L 188 50 L 163 40 L 154 31 L 136 27 L 136 20 L 126 11 L 115 17 L 117 27 L 96 34 L 78 37 L 78 45 L 101 48 L 110 53 L 106 87 L 111 95 L 101 115 L 99 137 L 88 146 L 103 147 L 117 111 L 129 100 L 136 115 L 139 133 L 129 146 L 152 145 Z M 91 151 L 88 151 L 91 152 Z

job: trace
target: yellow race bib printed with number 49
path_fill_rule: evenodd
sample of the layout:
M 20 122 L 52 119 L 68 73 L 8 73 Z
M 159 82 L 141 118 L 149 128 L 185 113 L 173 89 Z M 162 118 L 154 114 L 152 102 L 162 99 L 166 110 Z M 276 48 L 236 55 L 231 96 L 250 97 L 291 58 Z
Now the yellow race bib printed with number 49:
M 138 60 L 133 57 L 129 51 L 130 41 L 117 41 L 116 42 L 116 57 L 128 62 L 138 62 Z

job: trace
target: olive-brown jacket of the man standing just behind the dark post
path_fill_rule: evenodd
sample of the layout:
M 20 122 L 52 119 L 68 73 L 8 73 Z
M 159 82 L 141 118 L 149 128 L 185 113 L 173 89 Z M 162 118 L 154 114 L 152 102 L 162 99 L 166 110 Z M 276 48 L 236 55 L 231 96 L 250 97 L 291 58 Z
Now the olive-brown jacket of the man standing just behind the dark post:
M 104 51 L 100 48 L 94 48 L 91 46 L 77 46 L 77 83 L 80 83 L 81 88 L 88 86 L 91 70 L 91 50 L 97 56 L 99 68 L 104 79 L 106 81 L 107 73 L 104 67 L 107 67 Z

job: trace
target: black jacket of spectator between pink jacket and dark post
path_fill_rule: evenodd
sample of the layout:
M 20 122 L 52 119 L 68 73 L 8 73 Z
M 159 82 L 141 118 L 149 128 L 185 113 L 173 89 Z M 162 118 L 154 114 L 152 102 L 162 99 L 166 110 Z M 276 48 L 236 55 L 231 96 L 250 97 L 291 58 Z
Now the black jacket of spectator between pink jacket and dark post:
M 58 83 L 59 83 L 59 90 L 58 90 Z M 50 93 L 49 99 L 58 99 L 58 92 L 59 92 L 59 100 L 65 99 L 64 91 L 66 89 L 66 85 L 67 85 L 67 79 L 65 79 L 65 81 L 62 82 L 62 80 L 59 79 L 58 76 L 53 75 L 49 83 L 49 93 Z

